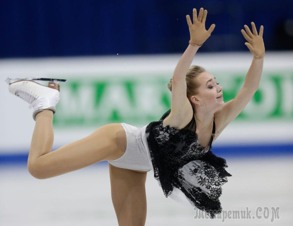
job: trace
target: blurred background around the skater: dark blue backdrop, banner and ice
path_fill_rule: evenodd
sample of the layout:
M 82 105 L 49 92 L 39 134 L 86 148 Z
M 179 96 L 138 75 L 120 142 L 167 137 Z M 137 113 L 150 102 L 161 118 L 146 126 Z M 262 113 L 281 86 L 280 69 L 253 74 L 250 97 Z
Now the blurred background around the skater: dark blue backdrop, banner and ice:
M 171 106 L 167 83 L 188 46 L 185 16 L 208 10 L 216 27 L 192 65 L 211 72 L 224 102 L 244 84 L 252 54 L 241 29 L 264 26 L 259 89 L 213 142 L 232 174 L 225 211 L 260 219 L 195 219 L 196 210 L 165 198 L 148 172 L 146 225 L 291 225 L 293 211 L 293 1 L 7 1 L 0 2 L 0 225 L 118 225 L 108 163 L 47 180 L 27 171 L 32 110 L 11 95 L 8 77 L 64 78 L 54 115 L 53 150 L 109 123 L 139 128 Z M 40 82 L 42 84 L 46 84 Z M 273 208 L 279 207 L 279 219 Z M 268 208 L 269 211 L 264 211 Z M 275 217 L 274 217 L 275 216 Z M 200 221 L 200 222 L 199 222 Z

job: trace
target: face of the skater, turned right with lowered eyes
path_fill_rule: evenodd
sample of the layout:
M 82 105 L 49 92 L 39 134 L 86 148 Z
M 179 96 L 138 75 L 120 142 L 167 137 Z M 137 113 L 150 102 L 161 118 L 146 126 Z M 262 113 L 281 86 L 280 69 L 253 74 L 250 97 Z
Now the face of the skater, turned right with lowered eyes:
M 198 89 L 198 95 L 195 96 L 195 101 L 199 101 L 198 103 L 204 102 L 205 107 L 213 110 L 217 110 L 223 106 L 223 88 L 211 73 L 202 72 L 198 75 L 197 82 L 200 84 L 200 87 Z

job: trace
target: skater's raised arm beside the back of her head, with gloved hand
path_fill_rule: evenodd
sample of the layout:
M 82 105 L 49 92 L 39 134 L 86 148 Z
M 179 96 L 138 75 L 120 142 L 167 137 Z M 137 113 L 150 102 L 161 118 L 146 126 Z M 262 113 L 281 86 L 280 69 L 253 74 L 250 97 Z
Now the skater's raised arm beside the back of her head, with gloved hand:
M 189 15 L 186 15 L 187 24 L 190 32 L 189 45 L 182 57 L 180 58 L 172 77 L 172 99 L 171 99 L 171 113 L 173 118 L 186 117 L 186 111 L 183 109 L 190 109 L 192 114 L 191 104 L 186 97 L 186 73 L 192 63 L 197 50 L 202 44 L 211 36 L 212 31 L 215 28 L 215 24 L 212 24 L 208 30 L 205 30 L 205 20 L 207 18 L 207 10 L 201 8 L 197 17 L 196 9 L 193 9 L 193 24 Z M 190 116 L 191 117 L 191 116 Z M 177 120 L 180 121 L 180 120 Z

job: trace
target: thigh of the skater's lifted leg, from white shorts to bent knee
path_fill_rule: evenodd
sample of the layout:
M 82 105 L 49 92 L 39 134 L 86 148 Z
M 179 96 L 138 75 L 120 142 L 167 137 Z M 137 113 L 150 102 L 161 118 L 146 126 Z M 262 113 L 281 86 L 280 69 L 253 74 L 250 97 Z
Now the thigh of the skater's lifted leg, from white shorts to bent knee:
M 89 136 L 41 155 L 31 163 L 31 171 L 42 178 L 55 177 L 100 161 L 121 157 L 127 146 L 126 133 L 120 123 L 100 127 Z

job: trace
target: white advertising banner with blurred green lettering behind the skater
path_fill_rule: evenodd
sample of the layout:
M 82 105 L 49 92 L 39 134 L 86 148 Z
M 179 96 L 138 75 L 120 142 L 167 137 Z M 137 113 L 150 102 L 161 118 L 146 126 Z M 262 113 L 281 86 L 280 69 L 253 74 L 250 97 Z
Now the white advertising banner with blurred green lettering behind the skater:
M 171 106 L 167 84 L 180 54 L 0 60 L 0 152 L 27 152 L 34 129 L 28 103 L 8 91 L 7 77 L 64 78 L 56 106 L 54 146 L 83 138 L 109 123 L 143 127 Z M 224 102 L 244 84 L 251 54 L 198 53 L 200 65 L 223 87 Z M 293 55 L 266 53 L 259 89 L 216 145 L 293 142 Z M 40 82 L 47 85 L 46 82 Z

